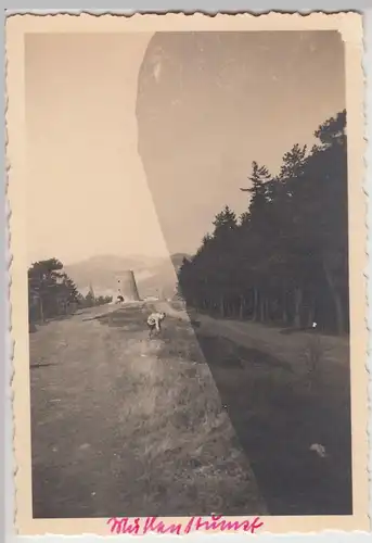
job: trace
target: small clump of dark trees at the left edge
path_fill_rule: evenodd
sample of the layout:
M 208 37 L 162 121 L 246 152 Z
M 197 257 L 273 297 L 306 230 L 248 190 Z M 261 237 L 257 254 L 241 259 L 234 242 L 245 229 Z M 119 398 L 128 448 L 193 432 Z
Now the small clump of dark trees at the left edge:
M 54 257 L 35 262 L 28 268 L 30 323 L 43 323 L 72 314 L 78 307 L 103 305 L 112 301 L 112 296 L 94 296 L 92 289 L 84 296 L 63 268 L 62 262 Z

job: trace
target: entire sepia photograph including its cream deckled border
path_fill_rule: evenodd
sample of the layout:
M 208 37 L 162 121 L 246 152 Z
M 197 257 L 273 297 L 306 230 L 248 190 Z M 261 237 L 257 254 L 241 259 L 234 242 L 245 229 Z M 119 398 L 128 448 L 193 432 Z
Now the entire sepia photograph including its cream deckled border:
M 24 22 L 28 522 L 365 527 L 360 20 L 280 17 Z

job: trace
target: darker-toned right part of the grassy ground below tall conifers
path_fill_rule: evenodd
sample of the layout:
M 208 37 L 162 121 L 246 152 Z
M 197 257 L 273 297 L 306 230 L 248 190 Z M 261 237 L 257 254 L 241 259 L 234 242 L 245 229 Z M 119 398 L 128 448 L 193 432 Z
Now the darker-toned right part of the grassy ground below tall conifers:
M 310 389 L 274 356 L 191 330 L 169 323 L 159 356 L 208 364 L 269 513 L 351 515 L 348 368 L 328 364 Z M 324 458 L 310 450 L 315 443 Z

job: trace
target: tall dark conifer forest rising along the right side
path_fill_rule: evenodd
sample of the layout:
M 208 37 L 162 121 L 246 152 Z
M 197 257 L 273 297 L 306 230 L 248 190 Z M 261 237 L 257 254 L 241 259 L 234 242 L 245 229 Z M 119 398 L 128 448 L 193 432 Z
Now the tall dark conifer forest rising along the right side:
M 247 210 L 218 213 L 196 254 L 184 258 L 185 302 L 221 317 L 348 331 L 346 111 L 294 144 L 277 175 L 253 162 Z

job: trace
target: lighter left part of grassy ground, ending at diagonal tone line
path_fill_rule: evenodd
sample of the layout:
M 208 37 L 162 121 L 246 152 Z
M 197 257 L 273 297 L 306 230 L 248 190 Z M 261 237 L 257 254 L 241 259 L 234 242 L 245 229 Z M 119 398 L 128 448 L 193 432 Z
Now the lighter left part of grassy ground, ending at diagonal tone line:
M 34 516 L 264 514 L 193 330 L 143 324 L 105 306 L 30 334 Z

